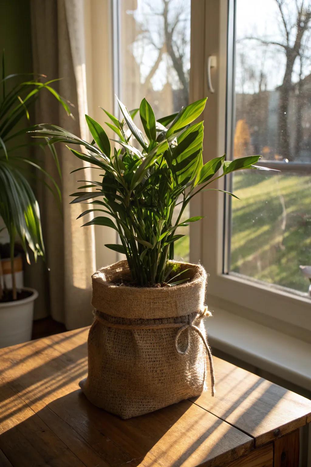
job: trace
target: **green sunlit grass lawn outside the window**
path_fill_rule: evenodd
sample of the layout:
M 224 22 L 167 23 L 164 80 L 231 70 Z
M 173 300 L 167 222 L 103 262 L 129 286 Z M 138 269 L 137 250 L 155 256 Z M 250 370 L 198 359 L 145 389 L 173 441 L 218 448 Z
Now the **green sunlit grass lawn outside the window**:
M 306 292 L 299 265 L 311 264 L 311 177 L 249 170 L 234 174 L 233 185 L 240 199 L 232 198 L 231 271 Z M 188 235 L 175 258 L 188 261 Z

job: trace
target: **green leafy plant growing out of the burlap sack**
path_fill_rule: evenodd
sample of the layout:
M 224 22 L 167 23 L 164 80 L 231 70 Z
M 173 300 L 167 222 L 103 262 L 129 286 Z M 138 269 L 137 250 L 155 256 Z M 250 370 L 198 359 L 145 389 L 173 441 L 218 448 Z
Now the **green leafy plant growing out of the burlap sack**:
M 82 181 L 83 185 L 78 188 L 81 191 L 71 195 L 74 197 L 71 203 L 92 200 L 88 203 L 90 208 L 79 217 L 97 212 L 100 215 L 84 226 L 109 226 L 117 231 L 120 243 L 106 247 L 126 255 L 131 279 L 139 286 L 169 282 L 167 278 L 173 265 L 168 260 L 174 257 L 174 242 L 183 237 L 175 233 L 176 229 L 202 217 L 180 220 L 196 194 L 214 190 L 207 188 L 208 185 L 235 170 L 261 168 L 254 165 L 260 156 L 234 161 L 225 161 L 225 156 L 221 156 L 203 164 L 203 122 L 193 122 L 204 110 L 206 100 L 198 100 L 177 114 L 156 120 L 152 107 L 143 99 L 139 115 L 145 134 L 118 100 L 122 120 L 104 111 L 111 120 L 107 125 L 117 134 L 118 139 L 112 141 L 118 149 L 111 149 L 104 129 L 88 115 L 85 117 L 93 137 L 90 143 L 53 125 L 34 133 L 48 138 L 50 144 L 66 142 L 83 146 L 84 153 L 69 149 L 79 159 L 102 170 L 97 180 Z M 131 145 L 131 137 L 141 149 Z M 180 211 L 173 222 L 177 205 Z M 169 285 L 181 282 L 176 276 L 175 271 L 175 282 Z

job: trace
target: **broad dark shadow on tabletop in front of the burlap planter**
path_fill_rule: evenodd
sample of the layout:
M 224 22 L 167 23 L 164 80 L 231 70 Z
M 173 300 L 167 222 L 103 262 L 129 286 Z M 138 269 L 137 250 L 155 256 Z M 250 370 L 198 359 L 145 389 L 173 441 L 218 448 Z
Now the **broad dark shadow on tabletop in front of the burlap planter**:
M 164 410 L 163 417 L 148 414 L 122 420 L 92 405 L 77 389 L 35 414 L 28 406 L 20 409 L 14 422 L 4 425 L 0 453 L 14 467 L 136 466 L 189 405 L 176 404 L 169 420 Z M 20 417 L 25 419 L 19 423 Z M 152 418 L 157 418 L 155 425 L 150 425 Z

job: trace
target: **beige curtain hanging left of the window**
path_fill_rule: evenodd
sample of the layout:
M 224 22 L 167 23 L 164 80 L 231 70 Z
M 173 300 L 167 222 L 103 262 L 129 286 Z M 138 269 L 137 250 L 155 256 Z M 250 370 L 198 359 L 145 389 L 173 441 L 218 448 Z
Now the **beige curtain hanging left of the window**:
M 52 123 L 88 138 L 84 126 L 87 95 L 83 0 L 31 0 L 30 4 L 34 71 L 48 79 L 62 78 L 53 86 L 74 104 L 75 117 L 68 117 L 56 99 L 42 92 L 35 121 Z M 79 186 L 77 180 L 91 178 L 88 169 L 70 175 L 83 162 L 64 145 L 59 145 L 57 152 L 62 170 L 62 215 L 51 193 L 38 186 L 47 260 L 46 265 L 31 266 L 28 283 L 39 290 L 35 317 L 51 314 L 67 329 L 74 329 L 92 321 L 90 276 L 95 271 L 95 241 L 93 228 L 81 227 L 81 219 L 76 220 L 83 206 L 69 205 L 69 195 Z M 41 160 L 45 170 L 57 179 L 52 157 L 47 153 Z

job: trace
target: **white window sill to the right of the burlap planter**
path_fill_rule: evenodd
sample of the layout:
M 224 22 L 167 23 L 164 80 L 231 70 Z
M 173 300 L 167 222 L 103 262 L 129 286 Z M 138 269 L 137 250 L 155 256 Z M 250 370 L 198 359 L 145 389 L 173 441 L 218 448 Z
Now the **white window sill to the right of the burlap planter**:
M 206 326 L 212 348 L 311 390 L 311 344 L 219 308 Z

